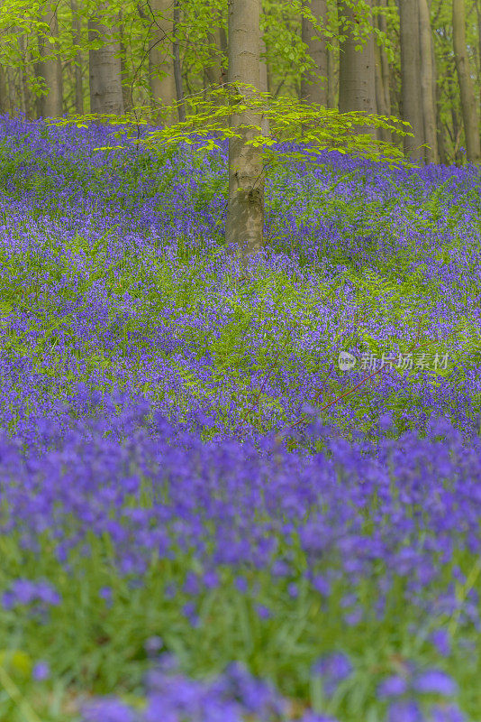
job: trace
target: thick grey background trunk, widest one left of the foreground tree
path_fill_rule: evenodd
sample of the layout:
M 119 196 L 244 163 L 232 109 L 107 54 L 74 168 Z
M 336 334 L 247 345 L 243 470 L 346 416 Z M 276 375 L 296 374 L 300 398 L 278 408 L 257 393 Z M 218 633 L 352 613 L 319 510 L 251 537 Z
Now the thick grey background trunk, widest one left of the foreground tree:
M 89 51 L 90 112 L 123 115 L 121 50 L 118 25 L 104 17 L 106 8 L 101 5 L 98 14 L 88 21 L 89 40 L 103 40 L 99 50 Z M 113 23 L 118 22 L 115 18 Z M 108 25 L 105 23 L 109 23 Z

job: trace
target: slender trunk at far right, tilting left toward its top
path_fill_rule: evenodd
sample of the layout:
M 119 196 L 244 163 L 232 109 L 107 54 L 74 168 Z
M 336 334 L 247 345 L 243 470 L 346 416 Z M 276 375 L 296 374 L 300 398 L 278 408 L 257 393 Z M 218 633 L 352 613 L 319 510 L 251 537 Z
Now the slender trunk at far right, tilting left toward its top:
M 467 160 L 479 162 L 481 151 L 479 146 L 479 121 L 477 116 L 475 91 L 469 69 L 466 48 L 466 11 L 464 0 L 453 0 L 452 28 L 454 56 L 458 72 L 459 90 L 461 94 L 461 112 L 463 116 L 464 134 L 466 138 Z

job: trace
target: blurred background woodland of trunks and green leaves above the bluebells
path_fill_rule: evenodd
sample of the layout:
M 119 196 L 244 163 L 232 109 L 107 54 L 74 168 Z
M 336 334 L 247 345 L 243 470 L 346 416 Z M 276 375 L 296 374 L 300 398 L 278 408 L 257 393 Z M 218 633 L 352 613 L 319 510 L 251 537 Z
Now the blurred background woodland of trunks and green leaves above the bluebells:
M 227 80 L 227 6 L 4 0 L 0 113 L 188 108 Z M 408 121 L 415 160 L 479 161 L 481 0 L 263 0 L 259 64 L 259 89 L 275 97 Z

